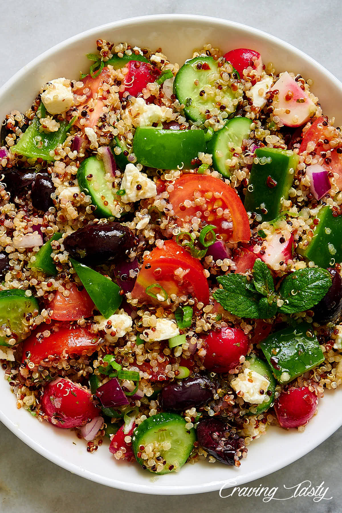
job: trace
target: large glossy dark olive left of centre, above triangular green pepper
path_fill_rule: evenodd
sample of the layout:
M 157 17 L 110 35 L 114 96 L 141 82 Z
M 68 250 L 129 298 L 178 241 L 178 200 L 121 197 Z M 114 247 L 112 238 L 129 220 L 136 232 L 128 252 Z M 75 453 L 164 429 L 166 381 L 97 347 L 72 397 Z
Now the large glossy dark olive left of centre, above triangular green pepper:
M 123 259 L 136 244 L 133 232 L 115 221 L 84 226 L 64 239 L 70 256 L 89 264 Z

